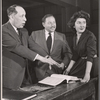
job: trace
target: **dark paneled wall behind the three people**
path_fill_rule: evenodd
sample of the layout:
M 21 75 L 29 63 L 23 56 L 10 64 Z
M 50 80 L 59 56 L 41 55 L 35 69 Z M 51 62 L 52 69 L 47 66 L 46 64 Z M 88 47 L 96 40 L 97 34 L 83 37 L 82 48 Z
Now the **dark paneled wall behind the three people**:
M 89 29 L 95 34 L 98 41 L 99 32 L 98 32 L 97 3 L 98 0 L 77 0 L 77 6 L 72 6 L 72 7 L 59 6 L 55 4 L 48 4 L 48 5 L 45 4 L 35 7 L 28 7 L 25 8 L 27 17 L 27 23 L 25 27 L 28 29 L 29 35 L 31 34 L 32 31 L 43 29 L 41 19 L 45 14 L 51 13 L 56 18 L 57 22 L 56 31 L 64 33 L 67 37 L 69 45 L 71 46 L 73 35 L 71 30 L 68 28 L 67 23 L 74 12 L 78 10 L 84 10 L 90 13 L 91 15 L 91 24 Z M 2 23 L 5 23 L 8 20 L 6 11 L 3 11 L 2 14 L 3 14 Z

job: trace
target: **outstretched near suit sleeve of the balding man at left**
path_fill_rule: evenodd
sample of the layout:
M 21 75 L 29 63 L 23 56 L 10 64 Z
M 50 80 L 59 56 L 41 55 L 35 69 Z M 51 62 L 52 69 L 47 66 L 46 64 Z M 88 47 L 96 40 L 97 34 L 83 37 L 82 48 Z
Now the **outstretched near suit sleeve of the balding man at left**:
M 21 45 L 21 43 L 15 40 L 8 31 L 5 31 L 4 29 L 2 30 L 2 46 L 10 52 L 16 53 L 29 60 L 33 60 L 37 53 L 31 51 L 28 47 Z M 28 37 L 28 34 L 26 36 Z

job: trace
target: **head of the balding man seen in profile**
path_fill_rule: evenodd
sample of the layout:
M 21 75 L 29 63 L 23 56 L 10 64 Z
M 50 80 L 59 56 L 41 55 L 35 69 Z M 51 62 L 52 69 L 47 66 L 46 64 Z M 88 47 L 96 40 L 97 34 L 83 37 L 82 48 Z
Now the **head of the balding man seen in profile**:
M 26 12 L 19 5 L 12 5 L 7 9 L 9 21 L 16 28 L 23 28 L 26 22 Z

